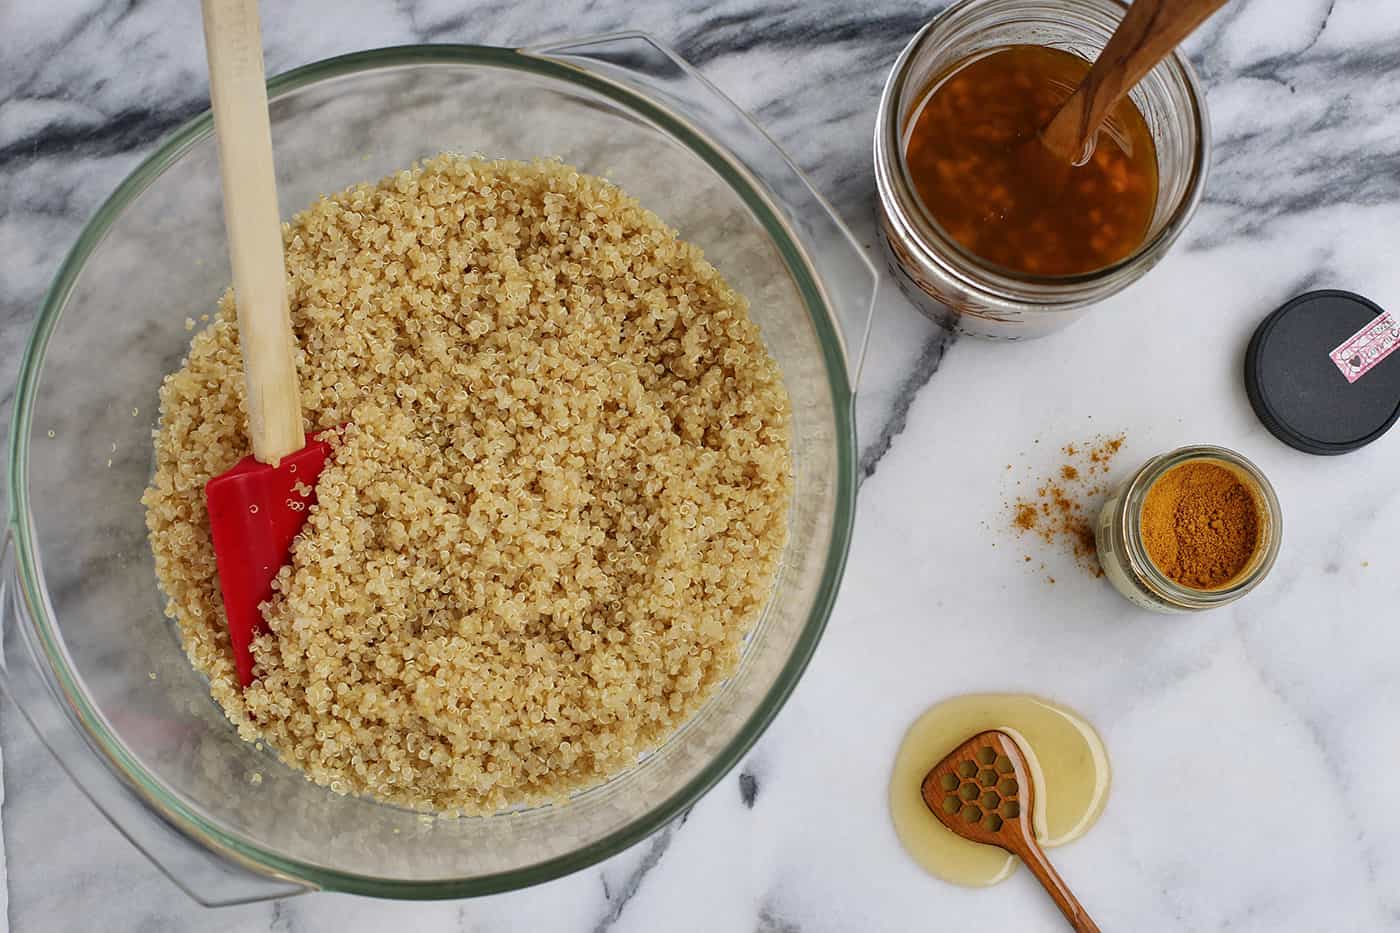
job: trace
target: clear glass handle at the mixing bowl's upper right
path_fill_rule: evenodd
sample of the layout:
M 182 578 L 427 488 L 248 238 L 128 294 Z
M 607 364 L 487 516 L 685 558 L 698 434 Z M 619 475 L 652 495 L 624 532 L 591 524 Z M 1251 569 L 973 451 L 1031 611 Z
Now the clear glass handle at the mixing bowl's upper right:
M 521 49 L 577 67 L 648 98 L 711 141 L 713 158 L 753 182 L 774 213 L 797 234 L 816 273 L 826 305 L 833 308 L 846 374 L 860 384 L 861 360 L 869 335 L 879 275 L 860 242 L 816 193 L 811 182 L 773 139 L 748 113 L 727 98 L 689 62 L 645 32 L 617 32 Z

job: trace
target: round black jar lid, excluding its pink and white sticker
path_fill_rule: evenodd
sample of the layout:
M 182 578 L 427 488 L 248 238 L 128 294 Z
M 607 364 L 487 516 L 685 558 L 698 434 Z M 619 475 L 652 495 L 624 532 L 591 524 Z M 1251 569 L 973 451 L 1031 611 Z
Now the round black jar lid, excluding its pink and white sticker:
M 1301 294 L 1259 325 L 1245 354 L 1249 401 L 1278 440 L 1309 454 L 1345 454 L 1400 417 L 1400 352 L 1354 382 L 1333 350 L 1385 311 L 1359 294 Z

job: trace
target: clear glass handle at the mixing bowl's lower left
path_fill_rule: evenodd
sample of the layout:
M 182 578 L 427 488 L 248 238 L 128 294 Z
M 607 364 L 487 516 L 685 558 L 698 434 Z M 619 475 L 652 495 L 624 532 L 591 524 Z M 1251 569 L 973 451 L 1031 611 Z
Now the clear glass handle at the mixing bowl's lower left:
M 11 518 L 11 523 L 15 520 Z M 78 789 L 98 810 L 189 897 L 206 906 L 246 904 L 311 890 L 307 884 L 270 877 L 221 857 L 167 822 L 133 786 L 116 776 L 102 752 L 76 721 L 66 686 L 53 675 L 43 651 L 63 651 L 45 643 L 35 628 L 20 583 L 11 524 L 0 562 L 0 689 L 15 705 Z

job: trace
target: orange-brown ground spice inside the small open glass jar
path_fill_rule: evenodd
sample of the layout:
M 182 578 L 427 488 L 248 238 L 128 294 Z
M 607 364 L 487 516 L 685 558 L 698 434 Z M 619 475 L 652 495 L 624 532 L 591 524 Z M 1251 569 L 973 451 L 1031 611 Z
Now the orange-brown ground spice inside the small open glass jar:
M 1147 492 L 1142 545 L 1172 580 L 1214 590 L 1238 577 L 1259 549 L 1259 503 L 1232 471 L 1187 461 Z

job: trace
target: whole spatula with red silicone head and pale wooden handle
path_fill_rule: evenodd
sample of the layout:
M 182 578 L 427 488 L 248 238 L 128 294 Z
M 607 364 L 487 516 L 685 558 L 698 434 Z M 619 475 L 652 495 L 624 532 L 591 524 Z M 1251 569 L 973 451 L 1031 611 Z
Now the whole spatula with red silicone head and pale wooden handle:
M 315 438 L 308 444 L 301 423 L 258 0 L 203 0 L 203 10 L 253 444 L 252 457 L 209 481 L 204 500 L 234 663 L 248 686 L 249 646 L 265 628 L 258 604 L 272 595 L 273 577 L 315 503 L 330 448 Z M 298 488 L 311 492 L 300 495 Z

